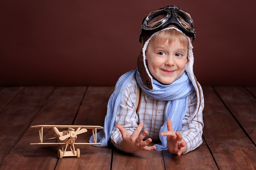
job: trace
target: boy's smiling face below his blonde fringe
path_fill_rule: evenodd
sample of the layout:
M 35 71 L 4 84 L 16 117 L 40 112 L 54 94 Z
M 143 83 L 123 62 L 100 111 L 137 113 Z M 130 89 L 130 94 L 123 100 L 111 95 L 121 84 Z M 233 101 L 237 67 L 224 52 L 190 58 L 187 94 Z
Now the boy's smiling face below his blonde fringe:
M 171 84 L 184 73 L 187 55 L 188 46 L 177 38 L 172 43 L 150 41 L 146 50 L 148 69 L 158 81 Z

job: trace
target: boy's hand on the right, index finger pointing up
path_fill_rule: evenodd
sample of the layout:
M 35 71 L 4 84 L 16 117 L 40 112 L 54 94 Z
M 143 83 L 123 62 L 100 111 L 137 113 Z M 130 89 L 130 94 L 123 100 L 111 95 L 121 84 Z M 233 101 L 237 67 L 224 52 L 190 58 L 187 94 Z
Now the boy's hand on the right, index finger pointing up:
M 173 130 L 171 120 L 167 120 L 167 129 L 168 131 L 162 132 L 161 136 L 167 136 L 167 146 L 169 152 L 180 156 L 182 153 L 186 152 L 186 143 L 182 139 L 180 132 L 175 132 Z

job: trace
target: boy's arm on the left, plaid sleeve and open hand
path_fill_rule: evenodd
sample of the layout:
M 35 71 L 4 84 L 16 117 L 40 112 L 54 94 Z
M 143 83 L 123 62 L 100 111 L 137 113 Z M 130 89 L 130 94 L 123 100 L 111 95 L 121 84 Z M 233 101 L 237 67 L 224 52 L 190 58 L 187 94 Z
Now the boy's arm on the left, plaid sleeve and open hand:
M 139 150 L 154 150 L 155 146 L 148 146 L 152 139 L 143 140 L 148 131 L 141 132 L 144 124 L 138 125 L 136 113 L 136 86 L 127 87 L 121 99 L 120 109 L 116 116 L 116 126 L 112 130 L 111 141 L 114 146 L 124 152 L 134 153 Z

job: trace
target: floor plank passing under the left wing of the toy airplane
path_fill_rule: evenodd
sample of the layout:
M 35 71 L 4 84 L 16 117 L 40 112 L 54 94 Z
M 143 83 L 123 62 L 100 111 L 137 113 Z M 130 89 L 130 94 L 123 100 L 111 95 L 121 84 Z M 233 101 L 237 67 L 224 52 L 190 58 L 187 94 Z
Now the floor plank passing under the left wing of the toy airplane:
M 72 124 L 85 90 L 86 87 L 57 87 L 44 103 L 31 125 Z M 28 102 L 24 105 L 27 106 L 27 104 Z M 30 110 L 26 111 L 30 114 Z M 52 137 L 54 135 L 53 130 L 47 130 L 45 130 L 45 133 Z M 29 144 L 38 141 L 38 131 L 29 127 L 0 169 L 16 170 L 25 167 L 25 169 L 33 170 L 53 170 L 58 162 L 57 150 L 61 146 L 34 146 Z

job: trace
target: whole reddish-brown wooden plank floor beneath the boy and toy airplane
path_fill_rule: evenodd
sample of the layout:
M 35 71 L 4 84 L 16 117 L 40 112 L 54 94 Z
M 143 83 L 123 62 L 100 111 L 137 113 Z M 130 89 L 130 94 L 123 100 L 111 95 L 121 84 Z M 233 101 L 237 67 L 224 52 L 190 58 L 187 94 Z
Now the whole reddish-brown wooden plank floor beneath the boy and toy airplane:
M 0 170 L 254 170 L 256 87 L 204 86 L 204 143 L 178 157 L 168 151 L 124 154 L 76 145 L 81 157 L 58 159 L 39 142 L 39 124 L 100 125 L 114 87 L 0 87 Z M 45 132 L 52 135 L 52 130 Z M 88 141 L 90 132 L 77 140 Z

